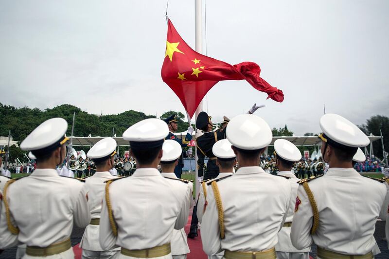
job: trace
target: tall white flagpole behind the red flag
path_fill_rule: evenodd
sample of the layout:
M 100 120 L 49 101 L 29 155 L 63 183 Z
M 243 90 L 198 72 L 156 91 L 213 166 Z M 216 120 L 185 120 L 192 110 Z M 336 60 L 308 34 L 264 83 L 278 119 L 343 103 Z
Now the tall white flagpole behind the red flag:
M 202 53 L 203 51 L 203 12 L 202 12 L 202 0 L 195 0 L 195 51 Z M 196 109 L 195 118 L 200 112 L 203 111 L 203 101 L 198 105 Z M 198 170 L 197 170 L 197 147 L 195 148 L 195 184 L 196 184 L 196 196 L 198 197 L 198 192 L 200 190 L 200 182 L 198 181 Z

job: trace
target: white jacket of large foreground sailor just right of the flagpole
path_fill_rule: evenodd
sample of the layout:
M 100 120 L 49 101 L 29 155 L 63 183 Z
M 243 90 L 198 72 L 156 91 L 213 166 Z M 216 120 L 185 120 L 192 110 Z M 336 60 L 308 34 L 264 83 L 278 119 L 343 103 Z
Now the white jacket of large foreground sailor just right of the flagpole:
M 239 168 L 232 176 L 219 180 L 217 186 L 224 209 L 225 238 L 220 239 L 214 194 L 208 188 L 201 227 L 204 252 L 210 256 L 221 250 L 273 248 L 290 204 L 289 181 L 251 166 Z

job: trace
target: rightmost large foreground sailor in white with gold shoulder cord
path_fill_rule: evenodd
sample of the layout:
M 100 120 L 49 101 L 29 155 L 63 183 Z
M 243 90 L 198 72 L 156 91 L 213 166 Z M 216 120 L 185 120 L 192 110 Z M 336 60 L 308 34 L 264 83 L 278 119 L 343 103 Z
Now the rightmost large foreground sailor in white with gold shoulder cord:
M 292 244 L 303 249 L 316 243 L 319 259 L 373 258 L 373 233 L 386 187 L 353 168 L 358 147 L 370 140 L 336 114 L 322 116 L 320 128 L 321 154 L 329 169 L 323 176 L 299 182 Z

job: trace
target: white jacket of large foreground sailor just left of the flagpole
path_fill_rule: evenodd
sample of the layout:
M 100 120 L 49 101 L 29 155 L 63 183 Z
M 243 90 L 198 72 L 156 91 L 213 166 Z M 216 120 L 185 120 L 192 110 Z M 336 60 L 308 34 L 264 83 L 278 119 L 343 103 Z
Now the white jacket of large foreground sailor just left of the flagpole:
M 192 191 L 188 183 L 163 177 L 155 168 L 137 169 L 130 177 L 109 186 L 109 200 L 118 235 L 114 236 L 108 218 L 106 198 L 100 218 L 100 245 L 146 249 L 172 240 L 172 230 L 188 221 Z

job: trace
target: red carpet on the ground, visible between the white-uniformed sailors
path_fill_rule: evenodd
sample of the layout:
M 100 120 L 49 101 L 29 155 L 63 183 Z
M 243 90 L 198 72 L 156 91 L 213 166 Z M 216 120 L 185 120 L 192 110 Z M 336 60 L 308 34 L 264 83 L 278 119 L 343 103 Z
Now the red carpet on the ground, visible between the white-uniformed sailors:
M 188 223 L 185 225 L 185 232 L 189 233 L 189 228 L 191 226 L 192 220 L 192 209 L 189 213 Z M 81 259 L 82 249 L 76 244 L 73 246 L 74 258 Z M 203 245 L 201 243 L 201 231 L 198 231 L 198 237 L 195 239 L 188 238 L 188 245 L 191 252 L 187 255 L 187 259 L 207 259 L 207 255 L 203 251 Z M 311 257 L 311 259 L 313 259 Z

